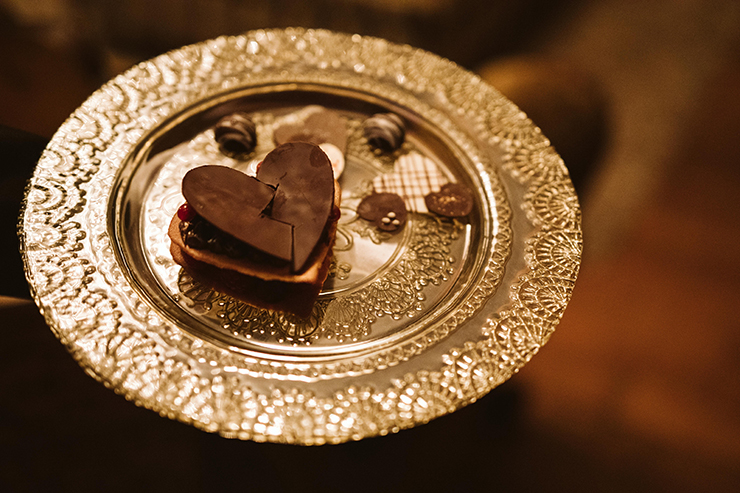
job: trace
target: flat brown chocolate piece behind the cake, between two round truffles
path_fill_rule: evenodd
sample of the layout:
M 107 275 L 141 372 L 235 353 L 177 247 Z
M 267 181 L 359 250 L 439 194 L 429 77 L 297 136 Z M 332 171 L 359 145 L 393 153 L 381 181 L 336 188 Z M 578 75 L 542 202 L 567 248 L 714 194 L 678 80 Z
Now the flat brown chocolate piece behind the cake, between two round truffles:
M 288 115 L 273 131 L 275 144 L 310 142 L 332 144 L 344 154 L 347 150 L 347 124 L 334 111 L 323 106 L 306 106 Z

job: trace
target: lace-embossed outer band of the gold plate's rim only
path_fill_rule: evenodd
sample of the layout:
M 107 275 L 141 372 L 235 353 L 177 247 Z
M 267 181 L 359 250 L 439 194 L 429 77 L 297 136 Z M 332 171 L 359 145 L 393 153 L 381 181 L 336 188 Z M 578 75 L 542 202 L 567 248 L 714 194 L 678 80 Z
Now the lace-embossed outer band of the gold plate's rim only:
M 235 49 L 240 54 L 236 58 Z M 178 64 L 191 62 L 201 70 L 177 73 Z M 494 172 L 506 193 L 521 196 L 511 214 L 517 224 L 526 223 L 525 232 L 515 232 L 511 258 L 499 259 L 502 269 L 506 266 L 502 285 L 508 296 L 501 295 L 504 301 L 487 314 L 480 330 L 451 341 L 431 363 L 381 378 L 385 383 L 379 386 L 350 379 L 325 393 L 289 385 L 261 392 L 249 385 L 248 376 L 242 378 L 239 368 L 209 371 L 213 361 L 196 358 L 211 349 L 207 342 L 168 326 L 144 304 L 117 306 L 106 298 L 94 274 L 108 269 L 106 274 L 115 277 L 120 272 L 93 265 L 84 252 L 69 248 L 86 234 L 80 227 L 85 214 L 105 207 L 94 203 L 94 196 L 88 200 L 86 191 L 90 182 L 110 180 L 106 173 L 115 169 L 110 160 L 122 158 L 106 154 L 110 142 L 123 139 L 135 145 L 146 128 L 184 105 L 212 97 L 214 87 L 239 87 L 243 81 L 233 76 L 232 65 L 268 73 L 296 63 L 319 73 L 342 68 L 396 84 L 443 111 L 478 146 L 500 156 Z M 221 72 L 203 70 L 207 66 Z M 143 86 L 127 87 L 134 79 Z M 167 92 L 161 105 L 146 100 L 147 84 Z M 147 105 L 151 120 L 127 126 L 131 121 L 113 125 L 92 116 L 119 111 L 135 119 L 137 105 Z M 73 142 L 70 135 L 75 136 Z M 582 251 L 580 208 L 567 169 L 514 104 L 477 76 L 423 50 L 306 29 L 252 31 L 186 46 L 143 62 L 96 91 L 44 151 L 27 189 L 19 236 L 34 300 L 55 335 L 91 376 L 137 405 L 207 431 L 308 445 L 359 440 L 425 423 L 474 402 L 510 378 L 559 322 Z M 132 324 L 122 314 L 137 310 L 145 323 Z M 169 347 L 158 336 L 164 332 L 193 351 L 183 354 Z M 218 351 L 214 358 L 218 361 Z

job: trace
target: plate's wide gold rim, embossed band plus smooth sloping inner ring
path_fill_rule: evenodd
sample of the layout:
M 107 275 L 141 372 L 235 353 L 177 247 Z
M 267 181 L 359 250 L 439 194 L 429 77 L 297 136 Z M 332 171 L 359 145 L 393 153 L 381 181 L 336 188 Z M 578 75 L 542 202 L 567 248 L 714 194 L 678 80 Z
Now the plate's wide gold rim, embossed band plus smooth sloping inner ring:
M 474 236 L 485 248 L 473 249 L 484 251 L 472 285 L 445 298 L 452 306 L 427 307 L 428 327 L 317 363 L 310 352 L 260 354 L 200 337 L 143 293 L 131 276 L 142 267 L 126 265 L 118 239 L 130 212 L 121 190 L 143 169 L 136 156 L 151 151 L 153 133 L 229 98 L 302 88 L 374 100 L 432 127 L 467 160 L 483 209 L 473 222 L 485 234 Z M 31 294 L 88 374 L 206 431 L 303 445 L 426 423 L 506 381 L 552 335 L 582 252 L 567 169 L 513 103 L 423 50 L 302 28 L 185 46 L 102 86 L 42 154 L 19 234 Z

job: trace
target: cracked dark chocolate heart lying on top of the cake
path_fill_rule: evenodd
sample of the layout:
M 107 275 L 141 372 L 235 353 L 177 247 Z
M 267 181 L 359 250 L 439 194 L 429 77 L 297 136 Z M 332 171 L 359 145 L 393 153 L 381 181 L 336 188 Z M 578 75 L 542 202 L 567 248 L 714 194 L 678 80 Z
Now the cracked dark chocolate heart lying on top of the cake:
M 265 156 L 256 177 L 226 166 L 194 168 L 182 193 L 216 228 L 299 272 L 331 215 L 334 176 L 318 146 L 290 142 Z

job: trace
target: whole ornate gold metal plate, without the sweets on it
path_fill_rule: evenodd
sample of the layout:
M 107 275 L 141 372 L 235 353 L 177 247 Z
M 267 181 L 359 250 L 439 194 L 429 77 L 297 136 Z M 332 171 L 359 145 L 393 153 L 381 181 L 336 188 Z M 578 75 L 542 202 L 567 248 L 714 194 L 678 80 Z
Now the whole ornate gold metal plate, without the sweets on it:
M 309 104 L 349 130 L 330 278 L 304 320 L 197 284 L 166 228 L 188 169 L 250 172 Z M 213 143 L 235 110 L 257 123 L 246 161 Z M 362 136 L 379 111 L 409 124 L 395 153 Z M 397 235 L 359 219 L 372 180 L 411 154 L 470 187 L 473 213 L 413 213 Z M 111 80 L 52 139 L 21 221 L 33 296 L 88 373 L 163 416 L 299 444 L 395 432 L 485 395 L 547 342 L 581 255 L 567 170 L 511 102 L 427 52 L 302 29 L 187 46 Z

